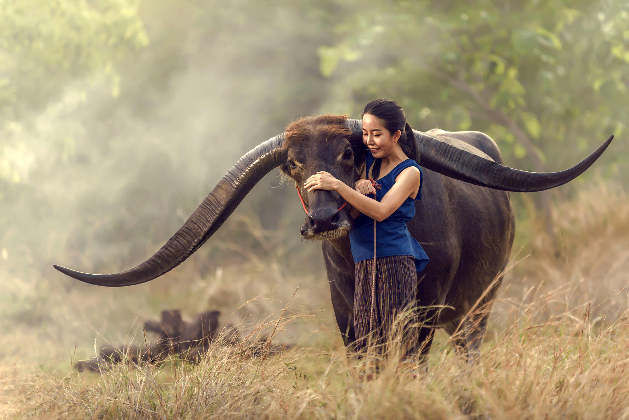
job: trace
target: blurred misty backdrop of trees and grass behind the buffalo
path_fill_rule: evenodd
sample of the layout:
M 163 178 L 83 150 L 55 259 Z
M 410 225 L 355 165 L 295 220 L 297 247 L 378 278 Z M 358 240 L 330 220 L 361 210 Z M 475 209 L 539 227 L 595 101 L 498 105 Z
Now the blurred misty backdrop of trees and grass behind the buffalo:
M 320 244 L 267 175 L 192 258 L 106 289 L 53 270 L 150 257 L 248 150 L 293 119 L 360 118 L 398 101 L 416 130 L 478 130 L 507 165 L 584 175 L 512 194 L 510 268 L 494 310 L 567 287 L 559 306 L 627 309 L 629 6 L 624 0 L 9 0 L 0 2 L 0 363 L 52 366 L 142 339 L 162 309 L 340 343 Z M 430 197 L 425 197 L 430 199 Z M 297 291 L 296 291 L 297 290 Z M 294 294 L 294 297 L 292 295 Z M 292 297 L 292 299 L 291 299 Z

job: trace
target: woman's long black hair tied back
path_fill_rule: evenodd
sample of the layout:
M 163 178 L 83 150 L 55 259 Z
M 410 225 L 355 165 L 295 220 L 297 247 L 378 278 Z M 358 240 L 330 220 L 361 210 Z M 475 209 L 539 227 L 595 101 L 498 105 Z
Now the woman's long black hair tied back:
M 391 101 L 390 99 L 376 99 L 365 106 L 360 118 L 365 114 L 373 115 L 379 119 L 384 128 L 386 128 L 391 135 L 398 130 L 401 131 L 402 135 L 398 141 L 402 147 L 402 151 L 406 156 L 415 160 L 415 162 L 420 161 L 413 129 L 409 123 L 406 122 L 406 114 L 404 113 L 404 109 L 399 106 L 398 102 Z M 372 169 L 371 175 L 373 179 L 378 179 L 380 175 L 381 162 L 381 159 L 376 159 L 376 162 L 374 162 L 374 169 Z M 369 176 L 369 174 L 367 174 L 367 176 Z

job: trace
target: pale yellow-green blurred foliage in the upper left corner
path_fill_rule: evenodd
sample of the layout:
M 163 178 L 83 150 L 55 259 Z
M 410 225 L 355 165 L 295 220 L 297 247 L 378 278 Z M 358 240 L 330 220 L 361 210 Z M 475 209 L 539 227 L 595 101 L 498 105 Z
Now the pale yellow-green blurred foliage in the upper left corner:
M 19 136 L 24 124 L 69 82 L 99 72 L 120 92 L 115 65 L 148 44 L 136 0 L 0 2 L 0 201 L 37 160 L 38 144 Z M 18 138 L 20 138 L 18 140 Z M 31 139 L 33 140 L 33 139 Z M 50 138 L 47 158 L 67 160 L 74 140 Z

